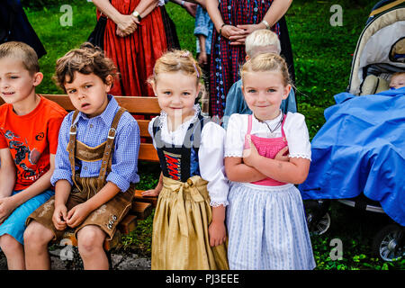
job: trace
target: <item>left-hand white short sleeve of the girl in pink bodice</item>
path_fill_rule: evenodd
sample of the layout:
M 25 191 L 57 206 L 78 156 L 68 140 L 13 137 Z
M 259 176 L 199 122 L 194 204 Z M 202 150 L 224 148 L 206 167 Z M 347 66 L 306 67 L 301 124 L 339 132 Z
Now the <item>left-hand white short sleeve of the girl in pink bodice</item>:
M 225 139 L 224 157 L 242 157 L 245 134 L 241 130 L 243 117 L 247 115 L 232 114 L 229 117 Z M 245 125 L 246 126 L 246 125 Z

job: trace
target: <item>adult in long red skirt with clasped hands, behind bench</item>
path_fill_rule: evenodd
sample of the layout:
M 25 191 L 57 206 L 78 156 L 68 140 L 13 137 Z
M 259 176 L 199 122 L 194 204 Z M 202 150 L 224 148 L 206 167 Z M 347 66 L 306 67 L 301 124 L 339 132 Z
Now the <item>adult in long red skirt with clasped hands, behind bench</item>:
M 108 17 L 104 33 L 105 56 L 120 73 L 111 90 L 114 95 L 152 96 L 147 85 L 155 61 L 167 49 L 160 5 L 164 0 L 93 0 Z

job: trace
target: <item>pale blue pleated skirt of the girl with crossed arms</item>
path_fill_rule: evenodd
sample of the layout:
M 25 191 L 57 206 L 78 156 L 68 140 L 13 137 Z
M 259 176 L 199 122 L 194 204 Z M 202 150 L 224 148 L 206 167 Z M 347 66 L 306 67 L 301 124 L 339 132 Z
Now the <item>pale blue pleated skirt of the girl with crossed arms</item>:
M 231 183 L 228 197 L 229 269 L 315 268 L 301 193 L 293 184 Z

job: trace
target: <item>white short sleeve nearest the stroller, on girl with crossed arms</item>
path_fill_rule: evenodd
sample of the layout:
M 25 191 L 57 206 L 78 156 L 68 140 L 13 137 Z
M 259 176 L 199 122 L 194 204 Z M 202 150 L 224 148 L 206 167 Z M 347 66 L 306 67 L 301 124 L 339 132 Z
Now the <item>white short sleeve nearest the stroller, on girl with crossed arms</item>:
M 311 142 L 305 116 L 298 112 L 288 112 L 284 123 L 285 138 L 290 157 L 311 160 Z

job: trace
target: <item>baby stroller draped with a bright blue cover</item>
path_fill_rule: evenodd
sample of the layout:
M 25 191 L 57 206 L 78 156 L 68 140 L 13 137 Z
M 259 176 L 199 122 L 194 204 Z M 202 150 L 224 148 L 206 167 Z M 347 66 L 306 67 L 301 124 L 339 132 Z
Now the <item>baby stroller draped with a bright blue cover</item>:
M 312 140 L 312 145 L 317 144 L 315 148 L 312 146 L 310 175 L 299 186 L 313 234 L 320 235 L 329 229 L 332 200 L 363 211 L 387 214 L 390 223 L 375 234 L 373 241 L 374 253 L 384 261 L 405 256 L 405 182 L 399 180 L 404 178 L 405 168 L 405 141 L 401 140 L 405 139 L 405 96 L 401 97 L 405 88 L 396 89 L 400 92 L 395 93 L 389 90 L 392 74 L 401 71 L 405 71 L 405 1 L 380 1 L 374 5 L 357 41 L 347 93 L 335 95 L 338 105 L 325 111 L 327 122 Z M 356 99 L 361 98 L 357 96 L 363 99 Z M 395 104 L 399 107 L 394 107 Z M 365 114 L 375 112 L 375 121 L 373 115 L 365 115 L 375 125 L 369 125 L 366 118 L 359 115 L 362 109 Z M 349 140 L 359 139 L 357 146 L 350 147 L 351 151 L 339 146 L 339 136 L 335 136 L 350 122 L 356 123 L 356 127 Z M 324 139 L 330 141 L 329 146 Z M 369 141 L 374 146 L 367 145 Z M 373 149 L 367 150 L 368 147 Z M 350 161 L 341 160 L 349 154 L 352 155 Z M 362 158 L 356 159 L 360 155 Z M 386 157 L 383 160 L 382 155 Z M 391 161 L 390 165 L 383 164 L 384 161 Z M 391 168 L 387 170 L 387 166 Z M 349 175 L 353 177 L 348 180 Z M 375 181 L 377 178 L 379 181 Z

